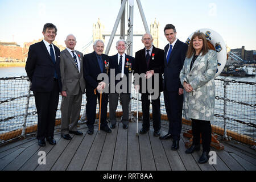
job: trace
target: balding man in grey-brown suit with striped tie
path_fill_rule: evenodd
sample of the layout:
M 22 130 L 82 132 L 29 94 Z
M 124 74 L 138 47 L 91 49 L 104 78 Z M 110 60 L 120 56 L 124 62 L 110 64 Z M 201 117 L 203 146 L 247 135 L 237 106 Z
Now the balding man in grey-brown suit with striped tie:
M 60 73 L 62 82 L 61 137 L 71 140 L 71 134 L 82 135 L 77 131 L 82 94 L 85 93 L 85 80 L 82 67 L 82 53 L 75 50 L 76 38 L 70 34 L 65 40 L 67 48 L 60 52 Z

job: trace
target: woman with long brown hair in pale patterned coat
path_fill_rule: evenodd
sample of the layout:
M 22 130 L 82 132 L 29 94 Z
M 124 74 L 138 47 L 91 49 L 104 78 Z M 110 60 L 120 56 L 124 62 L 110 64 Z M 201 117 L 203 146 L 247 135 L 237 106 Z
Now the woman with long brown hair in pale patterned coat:
M 205 35 L 195 32 L 189 44 L 187 57 L 180 71 L 180 81 L 184 86 L 184 114 L 192 120 L 193 143 L 185 152 L 192 154 L 200 150 L 200 134 L 202 134 L 203 154 L 199 163 L 209 159 L 210 141 L 212 139 L 215 84 L 214 75 L 217 70 L 217 54 L 210 50 Z

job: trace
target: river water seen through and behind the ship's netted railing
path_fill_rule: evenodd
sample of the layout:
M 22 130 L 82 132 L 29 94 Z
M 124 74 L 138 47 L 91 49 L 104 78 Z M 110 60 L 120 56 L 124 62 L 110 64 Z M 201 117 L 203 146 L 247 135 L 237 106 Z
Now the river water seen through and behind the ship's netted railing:
M 24 69 L 24 67 L 8 67 L 8 68 L 0 68 L 0 78 L 1 77 L 20 77 L 20 76 L 26 76 L 26 71 Z M 227 78 L 229 80 L 235 80 L 235 81 L 247 81 L 247 82 L 256 82 L 256 78 L 255 77 L 232 77 L 232 76 L 218 76 L 217 78 Z M 10 83 L 10 81 L 8 81 L 9 85 L 14 85 L 16 84 L 16 82 L 14 82 L 14 84 Z M 24 90 L 26 90 L 27 87 L 27 82 L 23 82 L 23 85 L 20 85 L 18 87 L 22 87 L 25 88 Z M 5 87 L 4 84 L 1 85 L 2 88 L 0 88 L 0 94 L 1 94 L 1 101 L 2 100 L 6 100 L 7 98 L 10 98 L 10 96 L 5 95 L 5 92 L 7 92 L 5 89 L 3 89 L 3 87 Z M 9 86 L 7 86 L 9 87 Z M 17 86 L 16 86 L 17 87 Z M 234 89 L 236 88 L 236 89 Z M 234 90 L 233 90 L 234 89 Z M 11 97 L 19 97 L 22 96 L 23 94 L 27 94 L 27 91 L 17 91 L 15 88 L 11 89 L 11 91 L 8 92 L 14 92 L 13 95 Z M 216 96 L 220 96 L 223 97 L 223 82 L 218 81 L 216 84 Z M 10 93 L 9 93 L 10 94 Z M 135 96 L 135 92 L 132 93 L 132 96 L 134 98 L 136 98 Z M 238 101 L 238 102 L 244 102 L 247 104 L 255 104 L 255 96 L 256 95 L 256 88 L 255 86 L 249 85 L 249 89 L 248 89 L 248 85 L 246 84 L 238 84 L 238 83 L 230 83 L 229 87 L 228 87 L 228 98 L 230 100 L 232 100 L 232 102 L 228 102 L 228 117 L 233 118 L 233 119 L 238 119 L 239 121 L 244 121 L 246 123 L 254 123 L 255 124 L 255 119 L 256 119 L 256 111 L 255 111 L 255 106 L 251 107 L 251 106 L 244 106 L 241 104 L 237 104 L 236 102 L 233 101 Z M 23 100 L 22 100 L 23 99 Z M 23 108 L 19 109 L 20 106 L 18 105 L 22 105 L 26 103 L 26 98 L 20 98 L 19 100 L 22 100 L 20 102 L 22 103 L 18 103 L 18 104 L 10 104 L 10 102 L 5 102 L 3 104 L 1 104 L 0 108 L 0 119 L 5 119 L 8 117 L 12 117 L 13 115 L 17 115 L 15 114 L 15 111 L 17 110 L 24 110 Z M 61 97 L 60 97 L 60 101 L 61 101 Z M 31 105 L 32 103 L 32 105 Z M 82 111 L 85 110 L 85 99 L 83 99 L 82 104 L 84 106 L 82 106 Z M 5 106 L 2 106 L 5 105 Z M 13 109 L 8 109 L 5 110 L 3 108 L 5 107 L 10 107 Z M 165 107 L 164 107 L 164 101 L 163 101 L 163 93 L 161 94 L 161 113 L 162 114 L 166 114 L 165 111 Z M 216 100 L 216 106 L 215 106 L 215 111 L 214 113 L 216 114 L 223 114 L 223 100 Z M 59 102 L 59 106 L 60 107 L 60 102 Z M 132 110 L 136 110 L 136 100 L 132 100 Z M 122 107 L 120 105 L 118 105 L 118 110 L 121 111 Z M 108 109 L 109 110 L 109 109 Z M 139 111 L 141 111 L 141 107 L 139 107 Z M 28 110 L 28 112 L 32 112 L 35 111 L 35 105 L 34 105 L 34 98 L 32 98 L 32 100 L 30 100 L 30 109 Z M 22 112 L 23 113 L 23 112 Z M 21 113 L 21 114 L 22 114 Z M 60 110 L 57 111 L 57 115 L 56 118 L 60 118 L 61 113 Z M 30 125 L 32 125 L 33 123 L 36 123 L 36 115 L 30 115 L 27 119 L 28 123 L 30 123 Z M 2 124 L 0 125 L 0 133 L 3 133 L 5 131 L 11 131 L 14 129 L 18 129 L 20 128 L 20 126 L 22 126 L 23 123 L 23 118 L 21 117 L 20 119 L 15 120 L 14 119 L 9 119 L 9 124 L 3 126 Z M 14 125 L 13 123 L 17 123 L 17 125 Z M 214 121 L 213 121 L 214 125 L 223 127 L 223 118 L 216 118 L 214 117 Z M 256 136 L 256 131 L 254 127 L 249 127 L 247 125 L 242 125 L 241 123 L 237 123 L 237 122 L 230 122 L 228 121 L 227 123 L 227 127 L 230 130 L 236 131 L 238 133 L 242 133 L 242 134 L 246 134 L 249 135 L 253 138 L 255 138 Z

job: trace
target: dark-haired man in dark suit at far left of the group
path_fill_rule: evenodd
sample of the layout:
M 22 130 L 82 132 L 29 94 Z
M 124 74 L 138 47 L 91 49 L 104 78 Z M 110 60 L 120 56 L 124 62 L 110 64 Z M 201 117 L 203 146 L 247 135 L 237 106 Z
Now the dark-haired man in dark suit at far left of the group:
M 44 24 L 42 42 L 32 44 L 28 51 L 26 72 L 32 82 L 36 110 L 38 112 L 38 144 L 56 144 L 53 139 L 55 117 L 61 91 L 60 49 L 52 44 L 57 28 L 52 23 Z

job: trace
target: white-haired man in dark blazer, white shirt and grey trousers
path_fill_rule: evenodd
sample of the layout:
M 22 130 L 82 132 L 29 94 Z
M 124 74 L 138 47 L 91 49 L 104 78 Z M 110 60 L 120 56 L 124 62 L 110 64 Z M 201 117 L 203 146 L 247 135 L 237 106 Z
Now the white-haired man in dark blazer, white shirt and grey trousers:
M 118 53 L 110 57 L 110 93 L 109 93 L 109 114 L 110 114 L 110 122 L 111 122 L 110 127 L 114 129 L 115 124 L 117 123 L 117 119 L 115 117 L 115 111 L 117 110 L 118 97 L 119 97 L 122 105 L 122 110 L 123 110 L 123 116 L 122 116 L 123 129 L 127 129 L 129 124 L 129 102 L 130 102 L 131 76 L 132 76 L 131 74 L 133 73 L 134 57 L 126 55 L 125 40 L 122 40 L 122 39 L 118 40 L 116 48 Z M 113 71 L 115 72 L 115 74 L 112 74 Z M 117 76 L 118 74 L 119 75 L 121 74 L 121 77 L 118 77 Z M 115 78 L 119 78 L 119 79 L 115 80 Z M 115 88 L 116 86 L 117 88 Z

